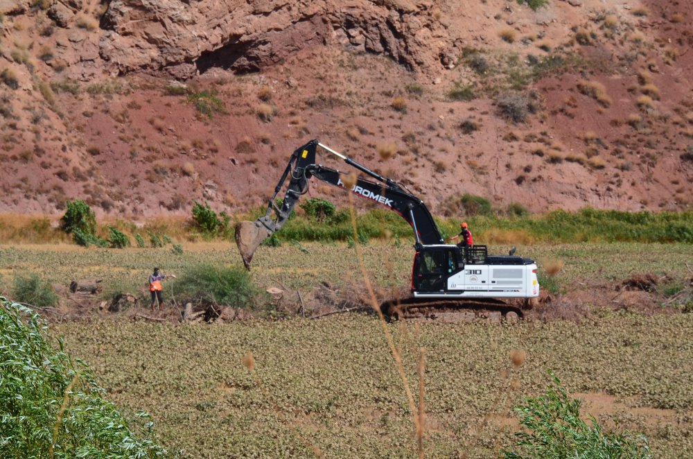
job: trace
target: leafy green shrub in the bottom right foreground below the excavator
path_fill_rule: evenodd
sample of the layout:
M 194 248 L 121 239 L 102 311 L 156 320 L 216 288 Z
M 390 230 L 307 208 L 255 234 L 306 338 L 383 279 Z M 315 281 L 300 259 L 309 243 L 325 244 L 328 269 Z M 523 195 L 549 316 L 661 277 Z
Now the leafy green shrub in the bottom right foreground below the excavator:
M 549 372 L 554 386 L 545 395 L 528 398 L 515 409 L 526 431 L 515 434 L 516 451 L 502 451 L 506 459 L 520 458 L 651 458 L 642 434 L 606 433 L 597 419 L 580 419 L 580 401 L 568 395 Z

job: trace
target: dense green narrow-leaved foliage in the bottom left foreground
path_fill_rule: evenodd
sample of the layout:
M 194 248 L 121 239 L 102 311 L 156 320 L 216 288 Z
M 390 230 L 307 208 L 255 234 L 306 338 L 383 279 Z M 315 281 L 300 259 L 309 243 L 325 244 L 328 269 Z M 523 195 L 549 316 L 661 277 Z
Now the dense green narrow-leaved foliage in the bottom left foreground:
M 0 457 L 164 456 L 161 447 L 135 437 L 89 365 L 58 344 L 51 347 L 33 311 L 0 297 Z

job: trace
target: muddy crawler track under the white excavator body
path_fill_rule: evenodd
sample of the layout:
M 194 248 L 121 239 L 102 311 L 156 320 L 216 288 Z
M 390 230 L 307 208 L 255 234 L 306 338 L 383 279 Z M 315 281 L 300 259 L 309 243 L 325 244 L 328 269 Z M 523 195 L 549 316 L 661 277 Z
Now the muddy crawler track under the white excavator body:
M 419 322 L 471 322 L 486 319 L 500 322 L 502 319 L 518 320 L 523 311 L 518 306 L 500 300 L 432 300 L 431 298 L 408 297 L 388 300 L 380 304 L 390 320 L 410 320 Z

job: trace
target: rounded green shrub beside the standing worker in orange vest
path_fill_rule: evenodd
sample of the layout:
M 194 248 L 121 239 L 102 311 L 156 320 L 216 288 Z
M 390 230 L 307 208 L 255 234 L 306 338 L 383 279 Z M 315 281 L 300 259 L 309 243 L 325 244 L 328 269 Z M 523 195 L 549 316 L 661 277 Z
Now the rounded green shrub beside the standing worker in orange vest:
M 209 264 L 187 268 L 176 282 L 176 291 L 183 302 L 246 309 L 256 306 L 259 295 L 245 269 Z

